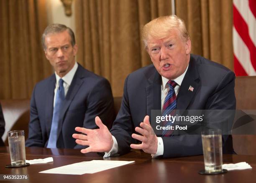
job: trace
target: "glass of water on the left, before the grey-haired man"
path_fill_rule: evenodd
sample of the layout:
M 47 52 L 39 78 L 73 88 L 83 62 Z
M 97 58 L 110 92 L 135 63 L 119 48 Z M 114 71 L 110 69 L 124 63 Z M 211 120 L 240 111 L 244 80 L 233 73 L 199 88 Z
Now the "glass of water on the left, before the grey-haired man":
M 24 130 L 8 131 L 8 142 L 12 166 L 26 164 Z

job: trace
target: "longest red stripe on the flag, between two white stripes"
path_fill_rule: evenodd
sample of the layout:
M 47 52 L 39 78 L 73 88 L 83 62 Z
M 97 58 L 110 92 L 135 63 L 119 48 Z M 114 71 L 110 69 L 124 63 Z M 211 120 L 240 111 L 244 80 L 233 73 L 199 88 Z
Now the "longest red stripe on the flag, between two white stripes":
M 234 26 L 242 38 L 243 42 L 246 44 L 249 52 L 250 52 L 250 58 L 251 58 L 251 64 L 253 65 L 253 68 L 256 70 L 256 47 L 254 46 L 250 36 L 249 36 L 249 30 L 248 25 L 243 20 L 243 17 L 238 12 L 236 7 L 233 5 L 233 19 L 234 19 Z

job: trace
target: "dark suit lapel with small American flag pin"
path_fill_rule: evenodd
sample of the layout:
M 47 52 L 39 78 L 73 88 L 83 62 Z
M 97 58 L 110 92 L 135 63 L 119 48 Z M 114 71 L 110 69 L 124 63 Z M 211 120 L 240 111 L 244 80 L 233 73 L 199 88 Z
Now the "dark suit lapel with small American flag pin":
M 187 109 L 199 87 L 199 74 L 195 65 L 195 59 L 190 56 L 189 67 L 179 88 L 177 97 L 177 109 Z M 192 87 L 189 90 L 189 87 Z

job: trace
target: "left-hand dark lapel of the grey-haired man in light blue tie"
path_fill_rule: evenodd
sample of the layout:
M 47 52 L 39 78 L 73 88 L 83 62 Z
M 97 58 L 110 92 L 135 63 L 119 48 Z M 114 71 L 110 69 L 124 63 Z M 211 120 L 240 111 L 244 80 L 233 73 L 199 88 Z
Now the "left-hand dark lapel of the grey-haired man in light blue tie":
M 50 136 L 51 121 L 53 115 L 53 105 L 54 105 L 54 89 L 55 89 L 56 77 L 55 74 L 51 76 L 49 80 L 49 88 L 46 94 L 46 105 L 45 105 L 45 120 L 46 120 L 46 132 L 48 137 Z

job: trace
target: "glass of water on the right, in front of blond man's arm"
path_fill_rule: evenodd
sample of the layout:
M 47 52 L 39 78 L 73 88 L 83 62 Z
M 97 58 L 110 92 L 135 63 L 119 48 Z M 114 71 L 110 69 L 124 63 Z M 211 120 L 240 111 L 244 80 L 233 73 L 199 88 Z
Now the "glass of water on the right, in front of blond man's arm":
M 202 131 L 202 146 L 204 152 L 205 173 L 222 172 L 221 130 Z

